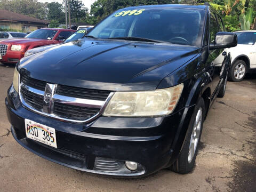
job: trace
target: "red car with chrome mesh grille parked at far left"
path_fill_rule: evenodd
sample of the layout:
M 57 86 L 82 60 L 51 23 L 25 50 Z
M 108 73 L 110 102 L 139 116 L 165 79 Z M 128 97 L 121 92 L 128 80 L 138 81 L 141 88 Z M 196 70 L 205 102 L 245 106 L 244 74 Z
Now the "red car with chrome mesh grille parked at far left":
M 0 42 L 0 62 L 17 63 L 27 50 L 35 47 L 63 42 L 75 33 L 71 29 L 37 29 L 26 38 L 6 39 Z

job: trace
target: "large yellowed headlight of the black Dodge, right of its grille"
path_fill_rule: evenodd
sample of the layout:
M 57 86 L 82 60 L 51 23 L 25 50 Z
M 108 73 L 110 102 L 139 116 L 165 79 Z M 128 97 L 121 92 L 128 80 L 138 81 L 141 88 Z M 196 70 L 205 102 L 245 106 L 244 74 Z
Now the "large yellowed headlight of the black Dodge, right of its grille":
M 182 90 L 183 83 L 162 90 L 115 92 L 103 115 L 125 117 L 168 115 L 177 105 Z

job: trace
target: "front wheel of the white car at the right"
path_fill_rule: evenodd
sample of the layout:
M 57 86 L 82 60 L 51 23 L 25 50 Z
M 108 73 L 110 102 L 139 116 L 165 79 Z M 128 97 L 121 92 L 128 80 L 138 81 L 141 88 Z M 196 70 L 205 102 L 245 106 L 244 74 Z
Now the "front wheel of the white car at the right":
M 239 82 L 244 79 L 247 66 L 243 60 L 236 60 L 231 66 L 229 71 L 229 80 L 233 82 Z

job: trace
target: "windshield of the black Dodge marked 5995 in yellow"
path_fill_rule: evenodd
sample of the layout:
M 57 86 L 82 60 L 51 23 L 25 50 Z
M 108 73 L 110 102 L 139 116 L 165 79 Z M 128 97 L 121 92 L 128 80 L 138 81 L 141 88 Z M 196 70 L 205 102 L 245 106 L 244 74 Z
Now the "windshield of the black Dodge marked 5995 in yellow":
M 111 14 L 88 35 L 96 38 L 139 37 L 201 46 L 204 14 L 204 10 L 186 8 L 125 9 Z

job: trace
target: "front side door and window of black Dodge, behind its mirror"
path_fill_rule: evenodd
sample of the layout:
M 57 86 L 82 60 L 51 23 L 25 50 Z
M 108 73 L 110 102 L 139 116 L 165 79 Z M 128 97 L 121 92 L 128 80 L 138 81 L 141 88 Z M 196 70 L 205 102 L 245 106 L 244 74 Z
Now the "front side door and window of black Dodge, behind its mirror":
M 224 31 L 223 23 L 217 14 L 211 13 L 210 16 L 210 43 L 214 44 L 215 41 L 215 34 L 217 34 L 219 31 Z M 219 20 L 219 22 L 218 22 Z M 212 91 L 213 95 L 212 97 L 215 97 L 215 95 L 218 93 L 219 86 L 223 80 L 221 78 L 223 77 L 223 70 L 222 67 L 225 67 L 225 63 L 227 61 L 227 52 L 224 51 L 224 49 L 214 49 L 210 50 L 210 65 L 211 65 L 211 77 L 212 77 Z M 221 58 L 221 60 L 219 59 Z M 221 64 L 220 64 L 221 63 Z

